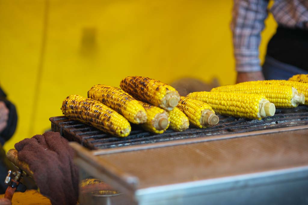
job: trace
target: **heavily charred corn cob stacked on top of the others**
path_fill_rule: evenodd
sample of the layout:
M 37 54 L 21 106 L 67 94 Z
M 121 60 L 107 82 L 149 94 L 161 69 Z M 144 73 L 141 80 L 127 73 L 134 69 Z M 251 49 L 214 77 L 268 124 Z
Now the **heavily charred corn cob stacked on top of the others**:
M 148 77 L 129 76 L 120 87 L 136 99 L 171 111 L 179 103 L 180 95 L 171 85 Z

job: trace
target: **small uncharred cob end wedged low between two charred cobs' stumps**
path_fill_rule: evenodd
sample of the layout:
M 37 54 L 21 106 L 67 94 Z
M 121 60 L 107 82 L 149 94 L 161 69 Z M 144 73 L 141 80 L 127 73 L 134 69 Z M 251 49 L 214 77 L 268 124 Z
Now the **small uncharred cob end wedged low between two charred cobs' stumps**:
M 179 108 L 173 108 L 173 110 L 169 112 L 169 117 L 170 128 L 174 131 L 182 132 L 188 129 L 188 117 Z

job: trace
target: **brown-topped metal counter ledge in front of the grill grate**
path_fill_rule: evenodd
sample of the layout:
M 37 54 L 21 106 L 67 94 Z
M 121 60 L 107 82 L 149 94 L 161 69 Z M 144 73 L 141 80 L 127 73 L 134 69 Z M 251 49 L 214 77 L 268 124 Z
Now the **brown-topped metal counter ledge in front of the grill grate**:
M 136 204 L 308 203 L 308 126 L 89 151 L 76 162 Z

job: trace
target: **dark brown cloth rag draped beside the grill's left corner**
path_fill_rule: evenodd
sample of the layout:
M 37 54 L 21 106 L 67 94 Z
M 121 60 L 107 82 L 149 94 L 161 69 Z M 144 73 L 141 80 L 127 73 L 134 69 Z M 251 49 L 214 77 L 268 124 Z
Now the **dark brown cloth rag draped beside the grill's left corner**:
M 76 204 L 78 168 L 74 151 L 59 132 L 45 132 L 15 144 L 18 160 L 29 164 L 42 195 L 53 205 Z

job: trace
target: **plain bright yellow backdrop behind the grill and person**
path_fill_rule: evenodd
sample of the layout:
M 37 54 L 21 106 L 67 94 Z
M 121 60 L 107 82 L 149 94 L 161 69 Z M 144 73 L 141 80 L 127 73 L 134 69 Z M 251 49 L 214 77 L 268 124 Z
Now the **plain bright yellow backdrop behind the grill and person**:
M 140 75 L 235 82 L 231 0 L 0 0 L 0 85 L 17 107 L 5 149 L 50 129 L 70 94 Z M 274 34 L 272 16 L 260 56 Z

